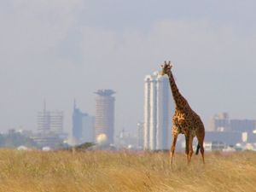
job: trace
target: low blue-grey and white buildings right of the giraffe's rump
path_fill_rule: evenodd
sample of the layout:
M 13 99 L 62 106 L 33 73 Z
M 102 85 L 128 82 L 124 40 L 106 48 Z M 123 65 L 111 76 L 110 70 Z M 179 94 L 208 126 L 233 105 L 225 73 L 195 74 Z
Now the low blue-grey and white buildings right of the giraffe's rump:
M 230 119 L 218 113 L 210 121 L 205 138 L 206 150 L 256 149 L 256 119 Z

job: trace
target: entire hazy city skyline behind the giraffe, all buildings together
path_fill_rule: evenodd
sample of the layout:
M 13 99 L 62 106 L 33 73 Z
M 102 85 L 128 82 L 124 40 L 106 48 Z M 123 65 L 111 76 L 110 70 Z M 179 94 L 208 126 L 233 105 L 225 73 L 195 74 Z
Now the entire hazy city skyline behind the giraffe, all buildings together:
M 64 131 L 64 113 L 44 108 L 38 112 L 38 128 L 33 131 L 9 130 L 0 135 L 0 145 L 17 147 L 21 143 L 44 150 L 63 148 L 82 143 L 105 146 L 100 149 L 166 150 L 172 141 L 172 113 L 174 103 L 167 76 L 159 72 L 144 78 L 143 121 L 137 123 L 137 133 L 114 130 L 115 92 L 96 90 L 95 115 L 84 113 L 73 103 L 72 135 Z M 197 141 L 195 139 L 195 145 Z M 20 148 L 26 148 L 20 146 Z M 177 150 L 185 148 L 184 137 L 177 138 Z M 97 149 L 97 148 L 96 148 Z M 205 150 L 256 150 L 256 120 L 230 119 L 228 113 L 218 113 L 206 126 Z

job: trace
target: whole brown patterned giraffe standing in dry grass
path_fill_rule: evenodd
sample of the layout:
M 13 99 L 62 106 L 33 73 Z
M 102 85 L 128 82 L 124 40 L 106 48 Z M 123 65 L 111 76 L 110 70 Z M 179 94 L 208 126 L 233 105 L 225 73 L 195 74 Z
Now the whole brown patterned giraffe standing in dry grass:
M 177 89 L 177 85 L 172 75 L 171 61 L 169 61 L 168 63 L 165 61 L 165 64 L 161 65 L 161 67 L 161 75 L 166 74 L 169 77 L 172 96 L 175 103 L 175 113 L 172 117 L 172 144 L 170 149 L 170 164 L 172 165 L 172 158 L 175 151 L 177 136 L 180 133 L 184 134 L 185 136 L 188 164 L 193 154 L 194 137 L 197 137 L 198 140 L 195 154 L 198 154 L 199 149 L 201 149 L 201 157 L 203 163 L 205 164 L 203 147 L 205 128 L 201 121 L 201 118 L 197 113 L 195 113 L 192 110 L 192 108 L 190 108 L 189 102 L 187 102 L 187 100 L 182 96 L 182 94 Z

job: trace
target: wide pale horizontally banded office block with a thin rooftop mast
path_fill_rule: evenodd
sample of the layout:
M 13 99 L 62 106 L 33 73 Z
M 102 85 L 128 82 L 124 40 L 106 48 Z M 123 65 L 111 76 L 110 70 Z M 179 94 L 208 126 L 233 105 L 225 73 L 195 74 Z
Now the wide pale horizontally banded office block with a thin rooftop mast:
M 63 132 L 63 112 L 47 111 L 44 102 L 44 110 L 38 112 L 38 131 L 61 134 Z

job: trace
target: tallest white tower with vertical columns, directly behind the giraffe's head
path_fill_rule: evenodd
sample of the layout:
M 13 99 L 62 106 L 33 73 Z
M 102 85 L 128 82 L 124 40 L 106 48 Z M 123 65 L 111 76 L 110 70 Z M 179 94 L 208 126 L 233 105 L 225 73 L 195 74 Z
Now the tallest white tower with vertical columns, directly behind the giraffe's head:
M 143 148 L 169 148 L 171 140 L 171 90 L 167 76 L 155 72 L 144 79 Z

